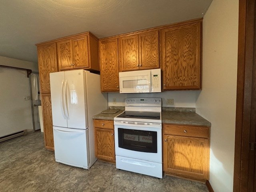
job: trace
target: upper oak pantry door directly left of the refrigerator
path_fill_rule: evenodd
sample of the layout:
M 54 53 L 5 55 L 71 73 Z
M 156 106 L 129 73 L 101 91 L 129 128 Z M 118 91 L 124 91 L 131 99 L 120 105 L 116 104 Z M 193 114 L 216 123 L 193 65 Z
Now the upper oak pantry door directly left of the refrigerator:
M 38 46 L 38 69 L 40 76 L 40 92 L 50 93 L 50 72 L 57 72 L 56 43 Z

